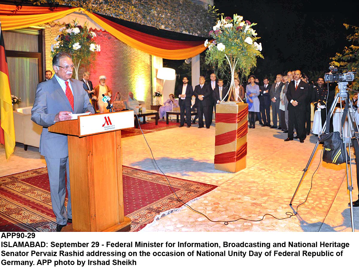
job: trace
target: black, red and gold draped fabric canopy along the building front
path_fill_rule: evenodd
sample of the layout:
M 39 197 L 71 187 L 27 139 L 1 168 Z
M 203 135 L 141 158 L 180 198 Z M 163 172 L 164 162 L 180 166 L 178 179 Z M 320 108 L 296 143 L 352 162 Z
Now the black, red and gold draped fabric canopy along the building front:
M 146 34 L 117 24 L 83 8 L 22 6 L 21 9 L 16 10 L 15 5 L 0 4 L 0 21 L 3 30 L 12 30 L 48 23 L 73 12 L 86 14 L 118 40 L 153 56 L 165 59 L 186 59 L 194 57 L 206 49 L 203 41 L 173 40 Z

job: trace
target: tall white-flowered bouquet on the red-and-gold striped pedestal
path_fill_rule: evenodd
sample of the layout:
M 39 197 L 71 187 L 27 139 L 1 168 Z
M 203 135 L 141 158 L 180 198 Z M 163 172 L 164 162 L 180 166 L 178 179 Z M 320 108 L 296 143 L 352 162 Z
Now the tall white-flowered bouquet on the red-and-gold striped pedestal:
M 249 75 L 251 69 L 256 66 L 257 57 L 263 58 L 262 44 L 257 43 L 260 37 L 252 28 L 256 23 L 243 20 L 242 16 L 233 15 L 233 19 L 225 17 L 218 20 L 209 35 L 213 41 L 206 40 L 206 63 L 218 68 L 230 67 L 231 80 L 229 97 L 234 96 L 234 75 L 239 71 L 242 76 Z M 237 98 L 236 98 L 237 99 Z

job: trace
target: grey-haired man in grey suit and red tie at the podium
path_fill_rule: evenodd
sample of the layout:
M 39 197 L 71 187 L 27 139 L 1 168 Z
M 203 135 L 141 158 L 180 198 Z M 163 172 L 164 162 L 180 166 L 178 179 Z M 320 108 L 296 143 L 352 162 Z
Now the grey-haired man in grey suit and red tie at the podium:
M 57 53 L 52 59 L 52 67 L 55 70 L 52 79 L 37 85 L 31 120 L 43 126 L 39 152 L 46 161 L 52 210 L 56 216 L 56 231 L 61 231 L 67 222 L 72 222 L 67 136 L 50 133 L 47 128 L 56 122 L 70 120 L 72 113 L 94 113 L 94 109 L 90 105 L 87 92 L 84 91 L 83 82 L 71 79 L 74 70 L 71 55 L 65 52 Z

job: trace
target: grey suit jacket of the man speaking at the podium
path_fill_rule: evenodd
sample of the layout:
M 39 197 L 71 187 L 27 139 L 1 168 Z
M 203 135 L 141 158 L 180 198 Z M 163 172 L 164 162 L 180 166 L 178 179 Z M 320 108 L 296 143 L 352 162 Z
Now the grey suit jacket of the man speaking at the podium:
M 88 94 L 82 86 L 83 83 L 70 79 L 70 84 L 74 93 L 74 110 L 55 76 L 37 85 L 35 101 L 31 109 L 31 120 L 43 126 L 39 152 L 45 157 L 64 158 L 69 156 L 67 135 L 51 133 L 47 130 L 54 124 L 53 120 L 57 113 L 60 111 L 72 111 L 74 114 L 87 111 L 94 113 Z

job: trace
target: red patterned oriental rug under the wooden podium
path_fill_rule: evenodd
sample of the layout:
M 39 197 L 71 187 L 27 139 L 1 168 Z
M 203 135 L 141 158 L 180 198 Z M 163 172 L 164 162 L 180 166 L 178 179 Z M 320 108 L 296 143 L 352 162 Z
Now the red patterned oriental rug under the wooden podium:
M 217 186 L 167 176 L 177 196 L 189 202 Z M 123 166 L 125 215 L 131 231 L 139 231 L 157 217 L 182 206 L 166 178 L 157 173 Z M 65 200 L 67 203 L 67 198 Z M 0 178 L 0 231 L 55 231 L 46 168 Z

